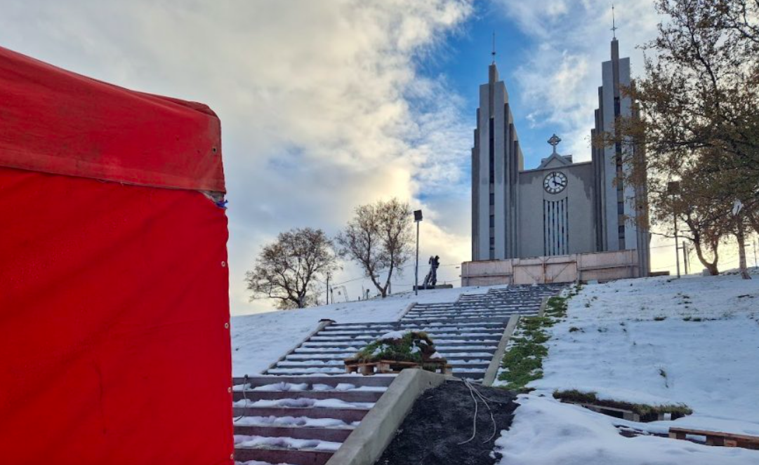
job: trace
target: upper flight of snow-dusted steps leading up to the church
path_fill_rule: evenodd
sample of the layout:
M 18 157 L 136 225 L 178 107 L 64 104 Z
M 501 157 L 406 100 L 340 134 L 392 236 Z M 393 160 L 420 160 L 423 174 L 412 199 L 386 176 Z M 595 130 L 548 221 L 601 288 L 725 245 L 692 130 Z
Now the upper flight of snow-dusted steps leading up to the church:
M 517 285 L 462 295 L 455 303 L 414 305 L 398 322 L 328 325 L 311 336 L 267 375 L 339 375 L 343 359 L 389 331 L 426 331 L 438 352 L 459 378 L 481 382 L 496 352 L 509 318 L 536 314 L 543 297 L 558 294 L 562 285 Z

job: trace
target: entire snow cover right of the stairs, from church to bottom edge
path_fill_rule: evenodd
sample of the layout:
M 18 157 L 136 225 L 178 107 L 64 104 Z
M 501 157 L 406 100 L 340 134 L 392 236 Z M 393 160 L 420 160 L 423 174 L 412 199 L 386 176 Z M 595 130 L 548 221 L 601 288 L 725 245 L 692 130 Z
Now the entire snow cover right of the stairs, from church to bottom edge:
M 759 277 L 689 276 L 591 284 L 550 328 L 543 379 L 521 396 L 499 439 L 503 464 L 754 464 L 759 451 L 652 436 L 669 426 L 759 435 Z M 687 404 L 690 416 L 632 423 L 553 400 L 555 390 L 643 404 Z M 544 395 L 545 397 L 539 397 Z

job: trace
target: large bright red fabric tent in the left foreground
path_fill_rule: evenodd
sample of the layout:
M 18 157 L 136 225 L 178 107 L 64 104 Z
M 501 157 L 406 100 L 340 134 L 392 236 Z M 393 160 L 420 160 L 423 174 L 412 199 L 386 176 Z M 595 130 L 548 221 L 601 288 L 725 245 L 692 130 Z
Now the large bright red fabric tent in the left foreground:
M 219 118 L 0 48 L 0 463 L 231 463 Z

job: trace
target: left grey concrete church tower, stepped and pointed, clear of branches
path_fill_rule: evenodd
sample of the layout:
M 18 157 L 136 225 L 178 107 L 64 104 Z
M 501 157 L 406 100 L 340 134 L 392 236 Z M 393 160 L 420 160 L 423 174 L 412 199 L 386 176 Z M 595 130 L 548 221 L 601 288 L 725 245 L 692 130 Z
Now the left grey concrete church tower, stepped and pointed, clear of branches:
M 509 108 L 509 93 L 499 80 L 495 60 L 488 67 L 487 84 L 480 86 L 471 156 L 472 259 L 513 258 L 518 224 L 515 186 L 524 161 Z

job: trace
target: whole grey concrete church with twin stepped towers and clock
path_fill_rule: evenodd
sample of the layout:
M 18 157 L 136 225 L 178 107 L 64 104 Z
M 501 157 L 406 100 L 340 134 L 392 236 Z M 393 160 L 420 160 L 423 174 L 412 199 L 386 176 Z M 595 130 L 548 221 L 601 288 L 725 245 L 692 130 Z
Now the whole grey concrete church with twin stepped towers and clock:
M 650 234 L 636 221 L 647 215 L 645 189 L 625 185 L 619 175 L 631 169 L 623 161 L 628 148 L 594 147 L 589 162 L 575 162 L 560 153 L 561 139 L 553 134 L 540 165 L 525 169 L 509 93 L 495 61 L 488 71 L 471 152 L 472 260 L 633 250 L 634 275 L 647 275 Z M 613 132 L 616 118 L 635 115 L 622 93 L 631 84 L 630 59 L 619 58 L 616 36 L 601 71 L 591 136 Z M 644 156 L 636 151 L 634 159 Z

